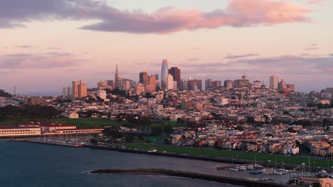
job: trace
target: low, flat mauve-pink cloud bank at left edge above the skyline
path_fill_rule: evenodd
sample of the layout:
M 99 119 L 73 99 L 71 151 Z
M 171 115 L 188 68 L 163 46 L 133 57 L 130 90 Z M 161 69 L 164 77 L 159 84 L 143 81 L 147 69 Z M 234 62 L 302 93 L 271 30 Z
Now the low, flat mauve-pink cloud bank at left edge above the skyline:
M 1 69 L 51 69 L 73 67 L 81 62 L 78 58 L 67 53 L 38 54 L 7 54 L 0 55 Z

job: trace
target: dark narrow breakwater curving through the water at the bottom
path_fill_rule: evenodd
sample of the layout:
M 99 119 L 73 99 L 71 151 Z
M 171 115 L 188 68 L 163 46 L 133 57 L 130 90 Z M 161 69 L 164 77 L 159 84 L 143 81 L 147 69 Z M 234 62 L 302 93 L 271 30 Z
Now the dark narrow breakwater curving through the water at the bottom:
M 230 183 L 233 185 L 249 187 L 280 187 L 289 186 L 280 183 L 271 183 L 263 181 L 251 181 L 247 179 L 237 179 L 226 176 L 214 176 L 208 174 L 199 174 L 189 171 L 175 171 L 169 169 L 99 169 L 90 171 L 88 174 L 137 174 L 137 175 L 158 175 L 158 176 L 176 176 L 188 179 L 199 179 L 204 181 L 213 181 L 218 183 Z

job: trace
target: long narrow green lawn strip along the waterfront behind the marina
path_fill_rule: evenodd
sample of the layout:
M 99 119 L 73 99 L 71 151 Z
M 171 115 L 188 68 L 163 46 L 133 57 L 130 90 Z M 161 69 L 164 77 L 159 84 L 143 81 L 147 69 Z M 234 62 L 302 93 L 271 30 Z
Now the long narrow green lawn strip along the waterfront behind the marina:
M 127 148 L 137 148 L 137 149 L 157 149 L 158 151 L 166 151 L 178 154 L 194 154 L 207 157 L 224 157 L 224 158 L 234 158 L 234 159 L 246 159 L 253 161 L 255 160 L 255 155 L 257 161 L 260 162 L 275 162 L 277 160 L 277 165 L 281 165 L 282 161 L 285 164 L 302 164 L 308 163 L 308 159 L 305 157 L 290 156 L 285 157 L 281 155 L 270 155 L 270 154 L 257 154 L 253 152 L 232 152 L 226 150 L 217 150 L 217 149 L 199 149 L 199 148 L 190 148 L 190 147 L 172 147 L 168 145 L 154 145 L 154 144 L 128 144 L 125 145 Z M 327 159 L 311 159 L 310 164 L 314 166 L 321 166 L 324 169 L 327 169 Z M 329 162 L 329 166 L 333 166 L 333 162 Z

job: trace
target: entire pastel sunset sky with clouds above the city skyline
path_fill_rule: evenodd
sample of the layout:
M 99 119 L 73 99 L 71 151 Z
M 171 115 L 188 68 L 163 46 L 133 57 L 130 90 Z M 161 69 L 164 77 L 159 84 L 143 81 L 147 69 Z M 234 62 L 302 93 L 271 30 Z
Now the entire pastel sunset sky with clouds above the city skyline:
M 0 89 L 61 94 L 139 72 L 163 59 L 181 79 L 333 87 L 331 0 L 0 1 Z

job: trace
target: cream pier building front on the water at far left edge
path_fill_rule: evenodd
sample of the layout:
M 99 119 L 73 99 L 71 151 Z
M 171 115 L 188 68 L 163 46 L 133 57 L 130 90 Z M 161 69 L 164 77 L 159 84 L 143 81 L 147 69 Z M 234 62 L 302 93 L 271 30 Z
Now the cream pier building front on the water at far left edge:
M 37 127 L 11 127 L 0 126 L 0 138 L 9 137 L 36 137 L 41 135 L 41 128 Z

